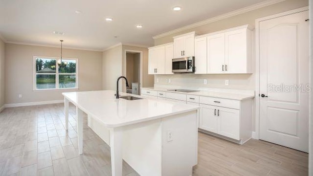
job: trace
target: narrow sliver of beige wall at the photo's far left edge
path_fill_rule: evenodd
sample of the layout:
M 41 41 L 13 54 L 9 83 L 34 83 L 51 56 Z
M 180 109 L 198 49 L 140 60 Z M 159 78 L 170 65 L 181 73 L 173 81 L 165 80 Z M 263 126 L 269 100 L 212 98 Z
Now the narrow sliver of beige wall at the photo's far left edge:
M 5 104 L 5 44 L 0 39 L 0 112 Z

